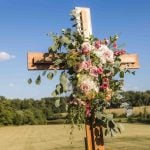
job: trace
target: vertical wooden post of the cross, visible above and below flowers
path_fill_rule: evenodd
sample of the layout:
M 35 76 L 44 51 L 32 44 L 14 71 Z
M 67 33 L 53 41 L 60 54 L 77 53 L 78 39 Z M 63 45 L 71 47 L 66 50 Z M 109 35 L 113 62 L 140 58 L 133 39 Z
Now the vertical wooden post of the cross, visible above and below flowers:
M 89 38 L 92 35 L 92 23 L 91 15 L 89 8 L 76 7 L 76 12 L 80 15 L 76 18 L 78 30 L 83 31 L 83 35 L 86 38 Z M 86 130 L 86 140 L 87 140 L 87 149 L 88 150 L 104 150 L 104 139 L 101 126 L 93 126 L 94 120 L 91 118 L 85 124 Z

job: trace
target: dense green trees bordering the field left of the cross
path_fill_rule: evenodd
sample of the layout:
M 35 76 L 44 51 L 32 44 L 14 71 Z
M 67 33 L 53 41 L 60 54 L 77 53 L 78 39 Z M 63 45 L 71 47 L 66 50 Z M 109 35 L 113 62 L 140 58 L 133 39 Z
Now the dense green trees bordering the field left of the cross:
M 66 99 L 58 98 L 7 99 L 0 96 L 0 125 L 47 124 L 50 120 L 64 118 L 56 115 L 66 112 Z

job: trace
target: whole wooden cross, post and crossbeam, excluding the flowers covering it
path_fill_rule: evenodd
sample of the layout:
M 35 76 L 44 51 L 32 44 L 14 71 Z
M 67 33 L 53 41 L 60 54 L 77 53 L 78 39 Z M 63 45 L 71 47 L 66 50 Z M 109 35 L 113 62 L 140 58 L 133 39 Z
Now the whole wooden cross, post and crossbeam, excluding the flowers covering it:
M 84 37 L 92 35 L 92 24 L 89 8 L 76 7 L 75 11 L 80 13 L 80 16 L 76 18 L 79 20 L 78 28 L 83 30 Z M 53 60 L 55 58 L 61 58 L 63 60 L 64 55 L 67 54 L 49 54 L 42 52 L 28 52 L 28 70 L 64 70 L 67 69 L 63 65 L 55 66 Z M 62 64 L 65 64 L 66 60 L 63 60 Z M 128 69 L 139 68 L 138 55 L 137 54 L 124 54 L 121 56 L 121 67 Z M 86 129 L 86 147 L 87 150 L 104 150 L 104 139 L 101 126 L 94 126 L 93 122 L 87 122 L 85 124 Z

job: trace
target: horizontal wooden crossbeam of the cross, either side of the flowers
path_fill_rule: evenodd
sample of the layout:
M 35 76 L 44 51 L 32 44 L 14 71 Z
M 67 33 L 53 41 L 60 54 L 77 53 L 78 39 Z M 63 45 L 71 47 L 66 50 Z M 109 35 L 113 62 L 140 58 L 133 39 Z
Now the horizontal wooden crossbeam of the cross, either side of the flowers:
M 64 70 L 66 68 L 64 53 L 42 53 L 42 52 L 28 52 L 28 70 Z M 60 65 L 55 65 L 56 59 L 61 59 L 62 63 Z M 137 54 L 124 54 L 121 56 L 121 67 L 128 69 L 139 68 L 139 61 Z

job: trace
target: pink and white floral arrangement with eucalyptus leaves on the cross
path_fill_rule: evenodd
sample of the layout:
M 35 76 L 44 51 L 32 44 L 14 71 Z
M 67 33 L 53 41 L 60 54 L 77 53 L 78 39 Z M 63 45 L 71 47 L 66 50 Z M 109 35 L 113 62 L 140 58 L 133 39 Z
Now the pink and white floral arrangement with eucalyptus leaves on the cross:
M 71 20 L 75 21 L 75 17 L 72 13 Z M 62 57 L 53 58 L 53 65 L 64 67 L 52 95 L 67 93 L 66 122 L 71 123 L 72 129 L 75 124 L 80 126 L 94 119 L 106 128 L 105 134 L 113 135 L 121 132 L 120 126 L 104 109 L 111 101 L 122 98 L 123 78 L 125 73 L 130 73 L 121 67 L 120 56 L 126 51 L 117 45 L 117 35 L 100 40 L 92 35 L 85 38 L 82 32 L 69 28 L 63 29 L 60 35 L 50 34 L 53 45 L 49 47 L 49 53 L 63 53 Z M 47 77 L 52 79 L 55 72 L 49 72 Z M 36 83 L 40 83 L 40 76 Z

